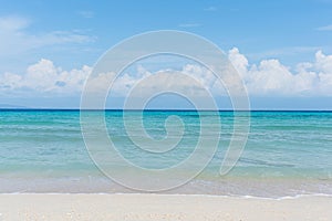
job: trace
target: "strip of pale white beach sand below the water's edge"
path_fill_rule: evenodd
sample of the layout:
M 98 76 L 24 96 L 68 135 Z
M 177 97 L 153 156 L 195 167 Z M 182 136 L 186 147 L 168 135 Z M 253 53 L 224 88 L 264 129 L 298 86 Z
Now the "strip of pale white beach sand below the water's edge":
M 332 220 L 331 197 L 0 194 L 0 220 Z

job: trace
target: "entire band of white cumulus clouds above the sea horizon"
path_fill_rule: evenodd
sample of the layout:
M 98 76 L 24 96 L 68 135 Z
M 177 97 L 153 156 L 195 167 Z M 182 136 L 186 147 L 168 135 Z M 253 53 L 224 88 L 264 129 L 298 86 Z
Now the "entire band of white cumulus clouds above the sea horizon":
M 241 76 L 249 95 L 253 96 L 332 96 L 332 55 L 318 51 L 313 62 L 299 63 L 291 69 L 278 60 L 262 60 L 258 64 L 250 64 L 238 49 L 231 49 L 228 57 Z M 52 61 L 42 59 L 30 65 L 25 73 L 0 74 L 0 93 L 2 95 L 39 93 L 41 95 L 80 95 L 84 82 L 92 67 L 82 66 L 70 71 L 56 67 Z M 169 77 L 170 74 L 183 73 L 193 76 L 197 84 L 188 82 L 186 77 Z M 158 77 L 152 77 L 158 75 Z M 107 90 L 110 80 L 115 73 L 98 73 L 91 80 L 91 88 Z M 145 81 L 148 80 L 148 81 Z M 125 96 L 139 84 L 139 95 L 151 94 L 158 88 L 175 87 L 188 92 L 190 95 L 201 96 L 201 88 L 208 88 L 215 95 L 225 95 L 224 86 L 206 67 L 197 64 L 184 65 L 180 70 L 158 70 L 151 72 L 138 65 L 135 73 L 122 73 L 112 86 L 113 96 Z M 199 86 L 198 86 L 199 85 Z M 137 94 L 137 95 L 138 95 Z

